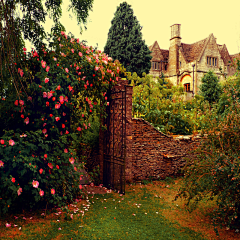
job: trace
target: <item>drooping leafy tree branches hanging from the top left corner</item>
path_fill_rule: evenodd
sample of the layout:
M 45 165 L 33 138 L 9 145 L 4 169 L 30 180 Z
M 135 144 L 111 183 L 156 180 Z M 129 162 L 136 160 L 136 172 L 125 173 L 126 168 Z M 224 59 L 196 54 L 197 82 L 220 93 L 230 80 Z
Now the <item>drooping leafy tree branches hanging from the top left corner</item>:
M 62 15 L 62 0 L 0 0 L 0 96 L 6 88 L 21 89 L 17 77 L 17 67 L 24 59 L 24 40 L 29 40 L 39 51 L 46 39 L 42 24 L 46 16 L 53 19 L 52 34 L 65 31 L 59 21 Z M 76 15 L 80 31 L 82 25 L 86 29 L 89 10 L 92 10 L 93 0 L 69 0 L 68 11 Z M 44 8 L 45 5 L 45 8 Z M 17 63 L 17 64 L 16 64 Z

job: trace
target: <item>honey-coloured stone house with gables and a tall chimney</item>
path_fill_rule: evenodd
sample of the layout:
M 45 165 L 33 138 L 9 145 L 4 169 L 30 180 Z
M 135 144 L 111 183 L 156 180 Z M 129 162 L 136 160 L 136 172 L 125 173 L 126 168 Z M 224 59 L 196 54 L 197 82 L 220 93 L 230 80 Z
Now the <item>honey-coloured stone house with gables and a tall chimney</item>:
M 161 49 L 157 41 L 149 46 L 152 51 L 149 74 L 155 78 L 163 72 L 174 85 L 184 86 L 185 99 L 191 99 L 193 93 L 197 94 L 202 77 L 210 69 L 220 81 L 225 79 L 219 70 L 220 67 L 226 76 L 233 75 L 236 69 L 230 66 L 231 62 L 234 58 L 240 59 L 240 55 L 230 55 L 226 45 L 217 44 L 212 33 L 193 44 L 182 43 L 180 27 L 181 24 L 171 26 L 169 50 Z

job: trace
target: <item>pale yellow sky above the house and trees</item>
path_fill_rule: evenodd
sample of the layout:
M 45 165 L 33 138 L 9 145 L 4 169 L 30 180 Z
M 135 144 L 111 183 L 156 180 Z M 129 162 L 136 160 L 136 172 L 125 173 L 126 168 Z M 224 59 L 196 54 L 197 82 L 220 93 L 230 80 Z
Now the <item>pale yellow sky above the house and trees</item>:
M 191 44 L 213 33 L 217 44 L 226 44 L 229 54 L 240 52 L 239 0 L 125 1 L 131 5 L 134 15 L 143 27 L 143 40 L 147 46 L 158 41 L 161 49 L 169 49 L 170 26 L 181 24 L 183 43 Z M 124 1 L 94 0 L 87 20 L 87 30 L 80 34 L 76 17 L 67 11 L 69 0 L 63 0 L 61 22 L 66 33 L 71 32 L 75 38 L 86 40 L 88 46 L 96 47 L 98 44 L 98 49 L 103 51 L 114 13 L 122 2 Z M 51 20 L 47 20 L 45 30 L 50 32 L 52 24 Z M 27 43 L 26 46 L 30 50 L 31 45 Z

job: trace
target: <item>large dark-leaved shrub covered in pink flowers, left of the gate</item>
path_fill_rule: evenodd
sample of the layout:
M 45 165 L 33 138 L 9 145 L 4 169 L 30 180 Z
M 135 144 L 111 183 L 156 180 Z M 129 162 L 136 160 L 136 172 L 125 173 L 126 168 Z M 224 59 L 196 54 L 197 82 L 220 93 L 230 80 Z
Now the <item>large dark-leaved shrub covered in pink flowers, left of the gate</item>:
M 21 62 L 25 89 L 1 101 L 0 213 L 64 205 L 81 193 L 84 164 L 75 147 L 93 110 L 105 116 L 106 91 L 122 71 L 119 62 L 64 32 L 50 47 Z

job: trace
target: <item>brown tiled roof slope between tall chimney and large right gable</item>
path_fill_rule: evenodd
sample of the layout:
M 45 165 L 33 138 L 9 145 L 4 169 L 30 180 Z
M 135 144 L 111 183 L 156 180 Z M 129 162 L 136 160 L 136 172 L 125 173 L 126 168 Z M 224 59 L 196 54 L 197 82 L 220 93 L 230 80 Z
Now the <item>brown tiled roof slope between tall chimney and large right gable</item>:
M 207 38 L 193 44 L 181 43 L 181 48 L 187 62 L 192 62 L 199 57 L 206 41 Z

